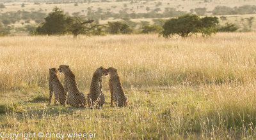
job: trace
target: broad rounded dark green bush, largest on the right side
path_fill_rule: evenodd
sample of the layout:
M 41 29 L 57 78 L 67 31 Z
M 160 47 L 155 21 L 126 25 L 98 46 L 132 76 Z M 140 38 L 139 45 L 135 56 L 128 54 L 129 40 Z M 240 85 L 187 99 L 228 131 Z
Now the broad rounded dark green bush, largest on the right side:
M 192 34 L 202 33 L 203 36 L 211 36 L 216 32 L 218 24 L 217 17 L 204 17 L 200 18 L 197 15 L 183 15 L 178 18 L 167 20 L 163 25 L 164 38 L 168 38 L 174 34 L 182 37 L 187 37 Z

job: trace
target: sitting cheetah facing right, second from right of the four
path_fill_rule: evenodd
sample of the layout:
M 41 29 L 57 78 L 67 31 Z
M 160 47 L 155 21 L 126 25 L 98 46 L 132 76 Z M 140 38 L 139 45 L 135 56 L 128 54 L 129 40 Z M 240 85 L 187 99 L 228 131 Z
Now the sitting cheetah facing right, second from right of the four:
M 102 76 L 106 76 L 106 69 L 99 67 L 93 74 L 90 93 L 87 95 L 89 108 L 99 108 L 105 102 L 104 94 L 102 93 Z

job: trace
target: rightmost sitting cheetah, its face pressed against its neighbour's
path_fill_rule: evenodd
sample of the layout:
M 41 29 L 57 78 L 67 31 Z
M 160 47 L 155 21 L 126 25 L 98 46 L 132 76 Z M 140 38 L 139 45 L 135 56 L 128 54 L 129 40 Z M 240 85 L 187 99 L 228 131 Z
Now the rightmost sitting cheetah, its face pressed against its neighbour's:
M 128 105 L 128 97 L 124 94 L 122 83 L 117 73 L 117 69 L 109 67 L 107 69 L 109 74 L 109 90 L 111 94 L 111 106 L 113 106 L 113 100 L 115 104 L 119 107 Z

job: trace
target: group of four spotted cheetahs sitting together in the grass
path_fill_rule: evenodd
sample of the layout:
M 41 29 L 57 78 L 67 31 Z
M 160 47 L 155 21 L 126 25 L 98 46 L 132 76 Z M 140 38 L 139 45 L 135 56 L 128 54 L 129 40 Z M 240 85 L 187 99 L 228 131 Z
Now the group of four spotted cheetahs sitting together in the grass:
M 64 83 L 61 84 L 58 73 L 64 74 Z M 127 106 L 129 103 L 127 95 L 124 94 L 122 83 L 117 73 L 117 69 L 109 67 L 99 67 L 93 73 L 90 92 L 87 97 L 79 91 L 76 83 L 76 76 L 69 66 L 61 65 L 58 70 L 56 68 L 49 69 L 49 104 L 51 104 L 52 92 L 54 93 L 54 104 L 60 102 L 62 106 L 69 104 L 75 108 L 84 108 L 88 104 L 88 108 L 102 108 L 105 103 L 105 97 L 102 92 L 102 76 L 109 75 L 109 90 L 111 93 L 111 106 L 118 107 Z M 114 103 L 114 104 L 113 104 Z

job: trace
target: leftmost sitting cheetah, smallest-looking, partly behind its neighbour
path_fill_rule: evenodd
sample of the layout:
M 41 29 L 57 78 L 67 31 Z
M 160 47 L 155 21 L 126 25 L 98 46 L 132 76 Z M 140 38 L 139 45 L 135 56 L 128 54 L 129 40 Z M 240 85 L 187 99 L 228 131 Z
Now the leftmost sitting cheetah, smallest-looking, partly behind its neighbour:
M 60 83 L 60 80 L 57 76 L 57 69 L 56 68 L 51 68 L 49 69 L 49 90 L 50 90 L 50 97 L 49 97 L 49 104 L 51 104 L 51 99 L 52 99 L 52 92 L 54 92 L 54 104 L 56 102 L 60 102 L 61 105 L 66 106 L 66 99 L 67 99 L 67 94 L 64 92 L 64 87 Z

